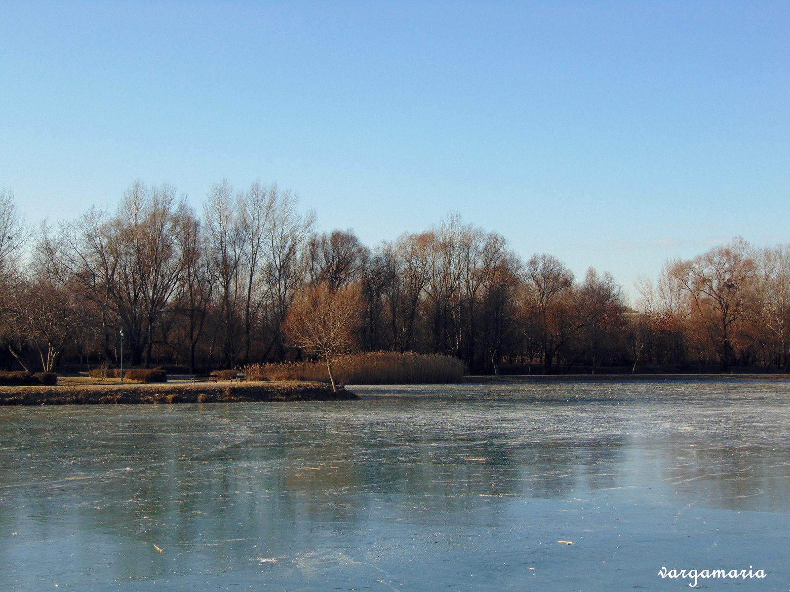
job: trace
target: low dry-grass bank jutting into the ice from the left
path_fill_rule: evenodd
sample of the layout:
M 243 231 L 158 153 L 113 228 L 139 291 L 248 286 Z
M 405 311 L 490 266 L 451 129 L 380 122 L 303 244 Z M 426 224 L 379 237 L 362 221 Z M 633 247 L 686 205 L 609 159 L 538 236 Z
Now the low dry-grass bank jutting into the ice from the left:
M 145 405 L 160 403 L 257 403 L 359 399 L 323 384 L 157 384 L 2 387 L 3 405 Z

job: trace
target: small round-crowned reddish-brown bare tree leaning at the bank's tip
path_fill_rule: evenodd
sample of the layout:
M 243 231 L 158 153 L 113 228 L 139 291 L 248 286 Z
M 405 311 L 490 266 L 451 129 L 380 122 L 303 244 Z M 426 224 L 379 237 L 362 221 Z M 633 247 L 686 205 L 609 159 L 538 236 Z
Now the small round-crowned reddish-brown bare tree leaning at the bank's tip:
M 288 340 L 324 360 L 333 392 L 337 392 L 337 384 L 332 362 L 355 345 L 354 331 L 361 309 L 358 286 L 330 290 L 320 283 L 304 290 L 285 318 L 283 330 Z

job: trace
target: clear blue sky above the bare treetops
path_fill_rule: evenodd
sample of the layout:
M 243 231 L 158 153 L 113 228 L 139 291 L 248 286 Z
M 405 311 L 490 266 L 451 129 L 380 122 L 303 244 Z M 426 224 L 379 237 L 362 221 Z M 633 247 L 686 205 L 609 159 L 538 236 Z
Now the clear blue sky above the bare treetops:
M 0 186 L 28 220 L 277 182 L 369 245 L 452 210 L 634 292 L 790 242 L 788 2 L 0 4 Z

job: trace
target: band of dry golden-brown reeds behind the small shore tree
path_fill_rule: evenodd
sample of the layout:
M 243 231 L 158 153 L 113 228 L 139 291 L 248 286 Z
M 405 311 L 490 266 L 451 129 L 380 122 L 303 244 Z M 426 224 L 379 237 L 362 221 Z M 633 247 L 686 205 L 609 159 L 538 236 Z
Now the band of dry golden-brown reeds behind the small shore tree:
M 329 381 L 323 362 L 254 364 L 245 370 L 250 380 Z M 461 382 L 464 365 L 441 355 L 376 351 L 339 358 L 332 371 L 340 384 L 448 384 Z

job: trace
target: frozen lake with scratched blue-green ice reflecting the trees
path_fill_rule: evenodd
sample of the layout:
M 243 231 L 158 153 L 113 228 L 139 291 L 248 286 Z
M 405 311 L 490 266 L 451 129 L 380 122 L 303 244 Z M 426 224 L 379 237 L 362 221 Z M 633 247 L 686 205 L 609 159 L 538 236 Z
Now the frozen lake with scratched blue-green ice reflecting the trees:
M 790 588 L 790 384 L 350 390 L 0 408 L 0 590 Z

